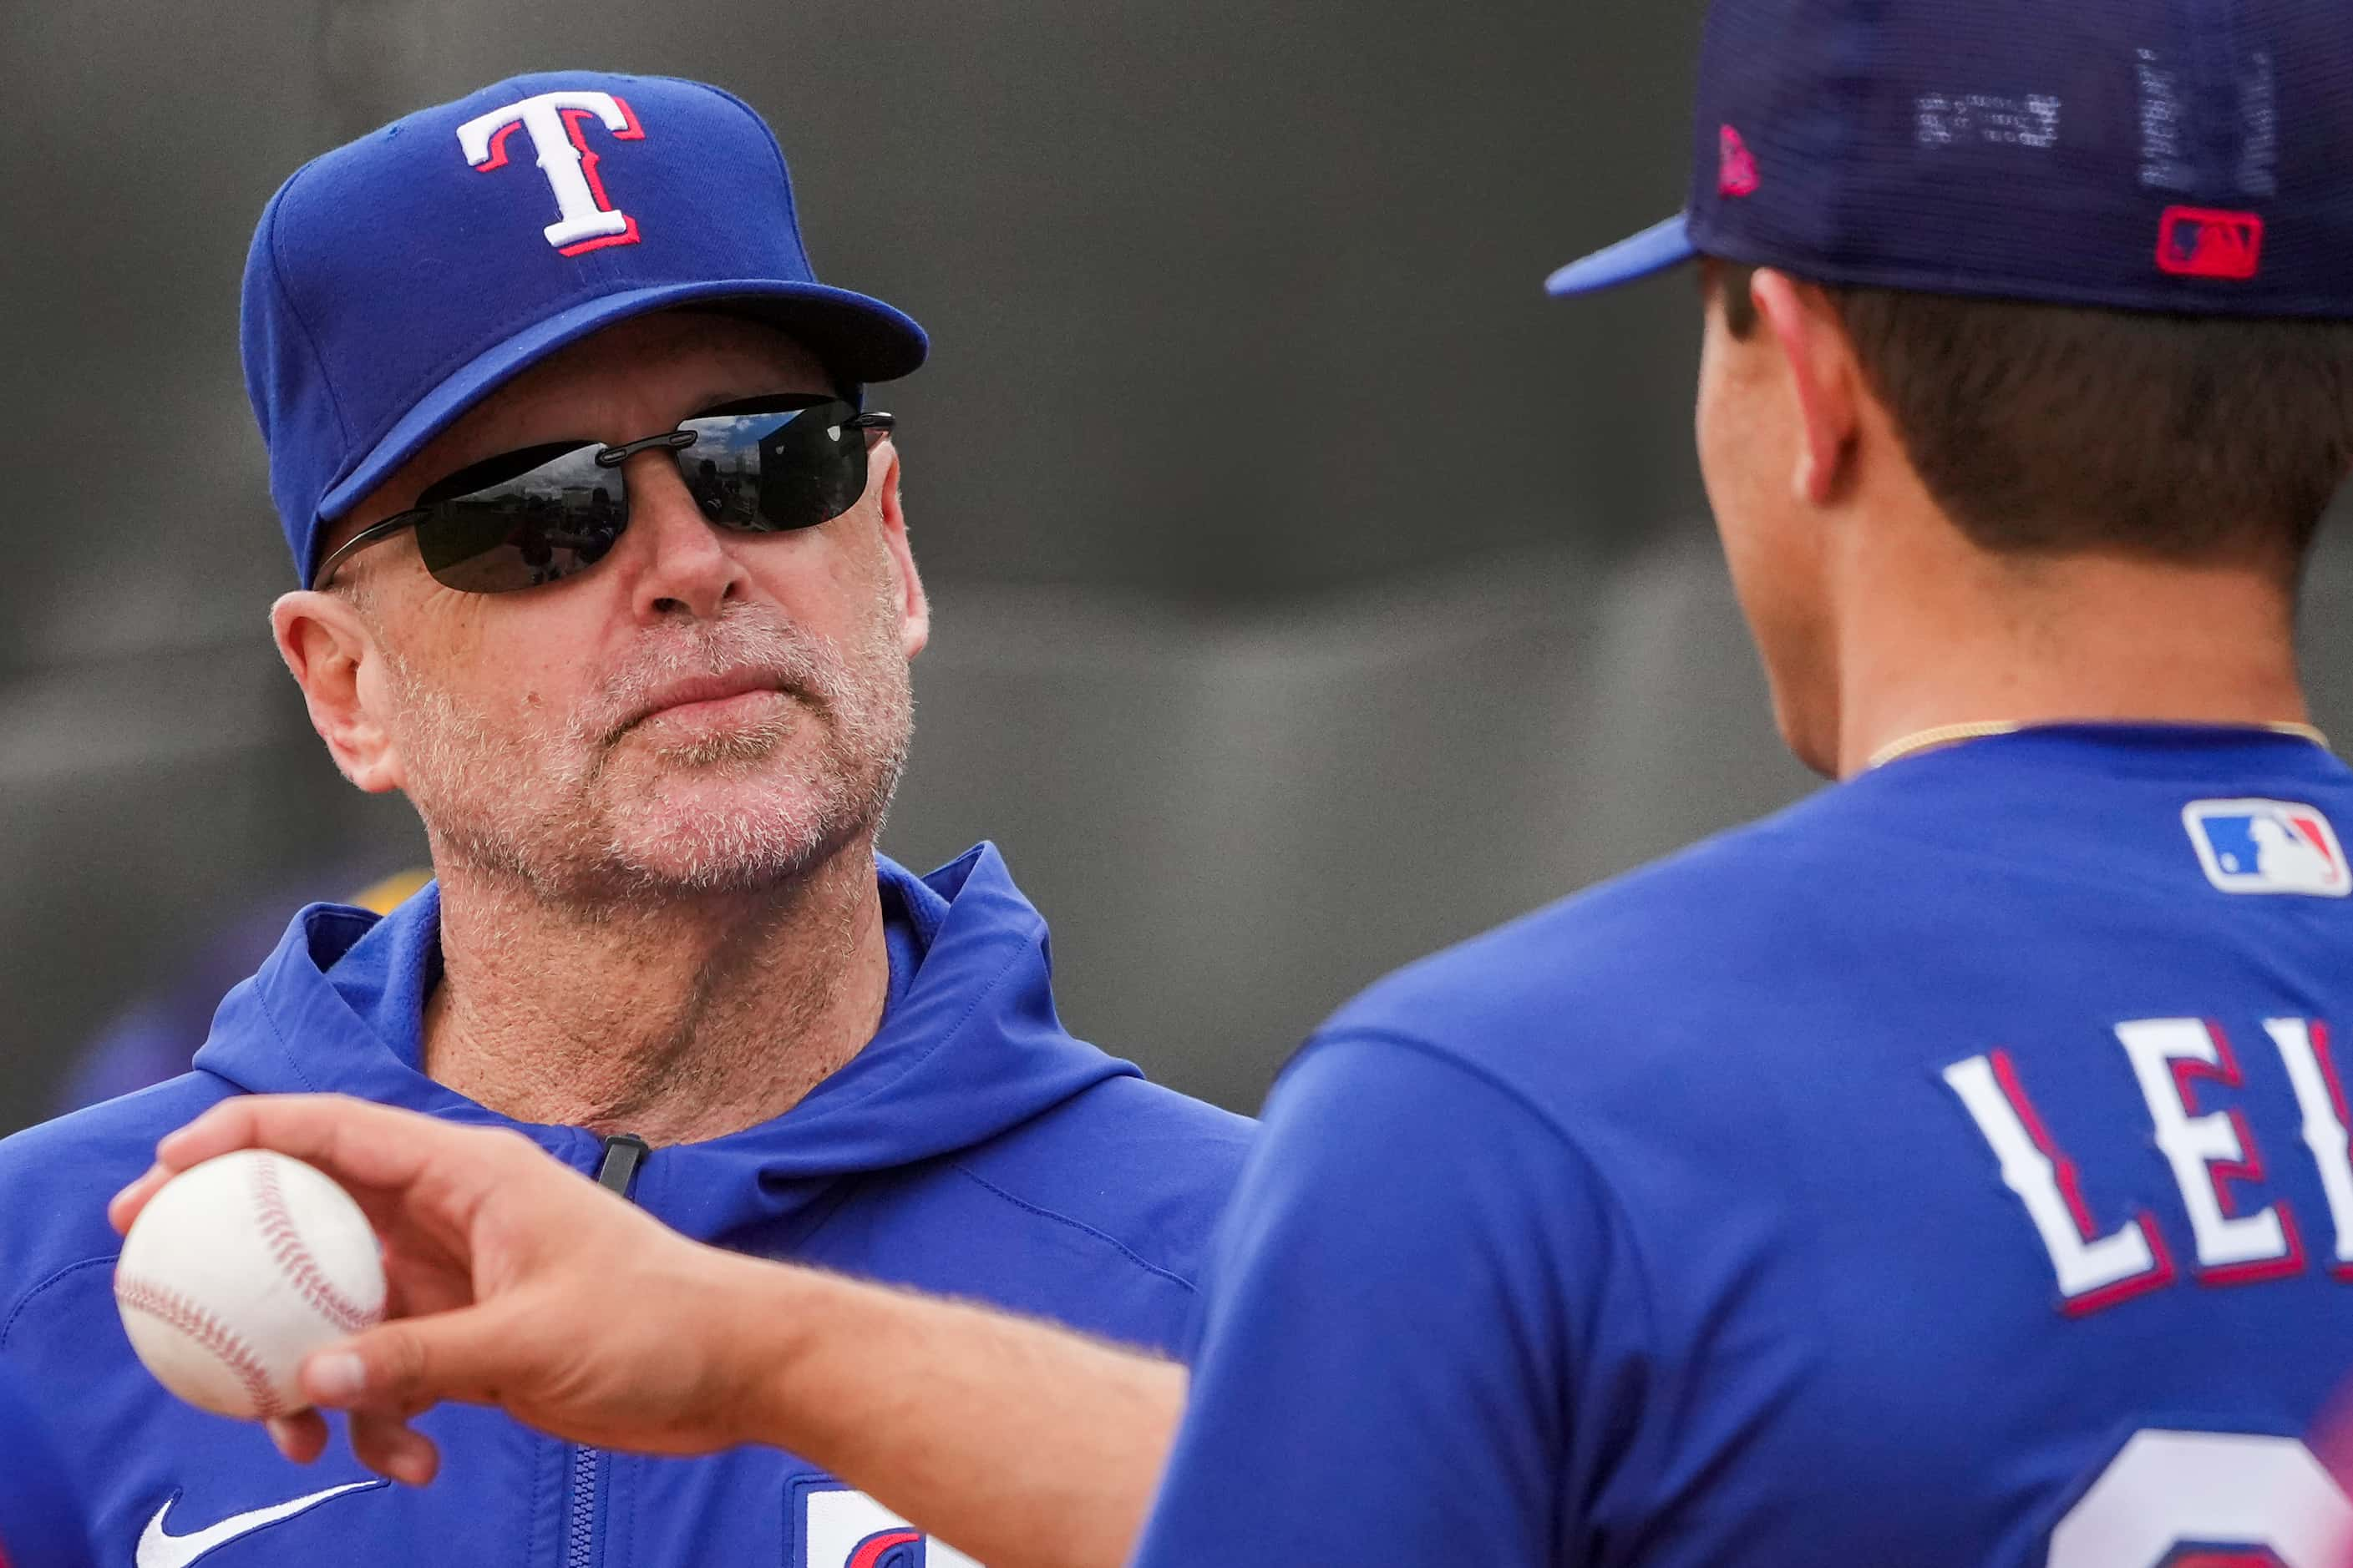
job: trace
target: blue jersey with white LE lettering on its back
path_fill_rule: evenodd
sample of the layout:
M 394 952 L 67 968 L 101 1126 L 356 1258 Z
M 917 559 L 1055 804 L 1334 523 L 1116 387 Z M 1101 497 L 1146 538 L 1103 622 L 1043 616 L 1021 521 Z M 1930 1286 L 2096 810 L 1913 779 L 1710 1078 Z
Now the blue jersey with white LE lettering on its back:
M 1144 1568 L 2337 1568 L 2353 771 L 1911 757 L 1417 964 L 1268 1100 Z

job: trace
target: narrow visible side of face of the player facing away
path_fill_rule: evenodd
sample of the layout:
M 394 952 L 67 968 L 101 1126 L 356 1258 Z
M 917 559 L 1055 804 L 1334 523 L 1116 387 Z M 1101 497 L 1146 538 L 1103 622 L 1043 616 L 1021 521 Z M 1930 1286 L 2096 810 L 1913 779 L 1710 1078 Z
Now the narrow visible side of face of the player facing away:
M 1699 470 L 1732 590 L 1755 635 L 1774 719 L 1809 769 L 1838 769 L 1838 677 L 1824 578 L 1824 520 L 1795 480 L 1805 430 L 1788 364 L 1765 322 L 1734 331 L 1722 270 L 1704 263 Z

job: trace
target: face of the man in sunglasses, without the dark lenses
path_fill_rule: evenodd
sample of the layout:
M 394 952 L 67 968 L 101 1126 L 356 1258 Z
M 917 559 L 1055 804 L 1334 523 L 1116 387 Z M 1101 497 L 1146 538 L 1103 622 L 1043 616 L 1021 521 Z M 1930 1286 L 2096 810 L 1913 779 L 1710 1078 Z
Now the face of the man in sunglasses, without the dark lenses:
M 831 390 L 812 355 L 753 322 L 621 322 L 473 409 L 329 545 L 487 456 L 621 444 L 715 404 Z M 751 891 L 871 839 L 906 762 L 908 658 L 929 625 L 896 477 L 880 442 L 845 515 L 734 534 L 704 522 L 678 458 L 654 449 L 624 468 L 628 531 L 574 578 L 471 595 L 435 583 L 409 534 L 353 555 L 336 583 L 374 644 L 355 675 L 384 748 L 369 778 L 409 795 L 438 858 L 553 898 Z M 282 604 L 282 637 L 285 621 Z

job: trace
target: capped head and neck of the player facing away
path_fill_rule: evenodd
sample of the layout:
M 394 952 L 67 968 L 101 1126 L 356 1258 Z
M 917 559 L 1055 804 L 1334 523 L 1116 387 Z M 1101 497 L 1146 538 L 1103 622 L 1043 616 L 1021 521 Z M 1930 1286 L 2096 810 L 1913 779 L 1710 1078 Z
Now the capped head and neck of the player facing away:
M 1701 468 L 1805 762 L 2301 715 L 2348 146 L 2315 0 L 1713 0 L 1685 212 L 1548 287 L 1711 259 Z

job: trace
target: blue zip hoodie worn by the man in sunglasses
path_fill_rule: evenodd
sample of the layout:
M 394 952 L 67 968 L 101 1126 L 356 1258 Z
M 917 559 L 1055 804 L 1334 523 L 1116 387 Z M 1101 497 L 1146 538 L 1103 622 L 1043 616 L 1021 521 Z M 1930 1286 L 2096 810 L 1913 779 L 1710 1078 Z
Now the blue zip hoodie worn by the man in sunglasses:
M 784 1117 L 654 1150 L 631 1197 L 744 1253 L 1174 1347 L 1249 1124 L 1064 1032 L 1045 922 L 995 849 L 925 879 L 885 860 L 880 882 L 892 992 L 875 1039 Z M 228 1095 L 365 1095 L 602 1166 L 593 1133 L 511 1124 L 419 1072 L 438 973 L 435 889 L 384 919 L 313 905 L 221 1004 L 191 1074 L 0 1143 L 0 1356 L 42 1394 L 101 1563 L 181 1568 L 207 1542 L 224 1542 L 207 1568 L 967 1561 L 776 1450 L 633 1458 L 445 1408 L 419 1422 L 440 1479 L 409 1490 L 344 1448 L 287 1465 L 261 1427 L 148 1378 L 115 1316 L 104 1204 L 162 1133 Z

